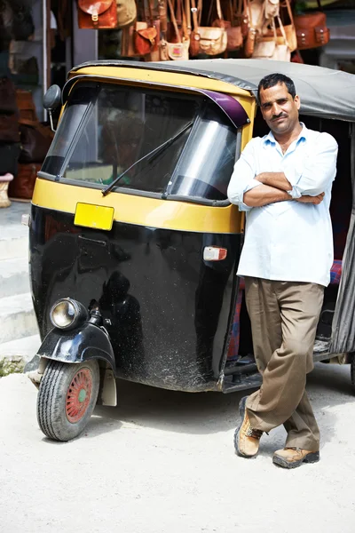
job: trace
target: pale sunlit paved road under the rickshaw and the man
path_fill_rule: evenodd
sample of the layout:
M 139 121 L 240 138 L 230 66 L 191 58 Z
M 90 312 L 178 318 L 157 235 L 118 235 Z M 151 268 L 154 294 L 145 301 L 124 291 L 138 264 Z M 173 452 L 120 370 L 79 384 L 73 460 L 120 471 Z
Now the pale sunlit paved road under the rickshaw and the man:
M 3 533 L 353 533 L 355 398 L 349 367 L 309 378 L 321 461 L 272 465 L 282 428 L 255 460 L 233 453 L 241 394 L 180 394 L 120 382 L 83 436 L 51 442 L 36 425 L 36 388 L 0 379 Z

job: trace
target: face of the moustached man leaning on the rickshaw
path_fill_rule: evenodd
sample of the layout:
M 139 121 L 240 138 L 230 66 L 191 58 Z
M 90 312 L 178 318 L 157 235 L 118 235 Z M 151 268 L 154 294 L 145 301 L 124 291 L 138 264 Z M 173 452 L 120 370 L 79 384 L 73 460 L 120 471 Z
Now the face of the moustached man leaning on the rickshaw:
M 272 133 L 281 135 L 293 131 L 298 123 L 300 99 L 293 99 L 285 84 L 277 84 L 270 89 L 261 89 L 260 108 Z

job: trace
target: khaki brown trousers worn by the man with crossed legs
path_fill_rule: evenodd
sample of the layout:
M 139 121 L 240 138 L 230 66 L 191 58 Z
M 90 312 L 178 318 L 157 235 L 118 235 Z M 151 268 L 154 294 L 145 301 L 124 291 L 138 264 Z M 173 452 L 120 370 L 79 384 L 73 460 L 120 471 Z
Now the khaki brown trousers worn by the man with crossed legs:
M 319 450 L 319 428 L 305 392 L 324 287 L 246 277 L 245 292 L 263 385 L 248 396 L 254 429 L 284 425 L 285 447 Z

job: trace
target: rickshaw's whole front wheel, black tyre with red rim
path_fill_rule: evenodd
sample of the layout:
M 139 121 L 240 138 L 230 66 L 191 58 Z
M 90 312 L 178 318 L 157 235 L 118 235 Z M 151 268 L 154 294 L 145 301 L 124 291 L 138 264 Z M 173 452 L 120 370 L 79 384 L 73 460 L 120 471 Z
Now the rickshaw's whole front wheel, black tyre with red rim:
M 49 362 L 37 396 L 37 420 L 43 434 L 55 441 L 77 437 L 91 418 L 98 393 L 97 361 Z

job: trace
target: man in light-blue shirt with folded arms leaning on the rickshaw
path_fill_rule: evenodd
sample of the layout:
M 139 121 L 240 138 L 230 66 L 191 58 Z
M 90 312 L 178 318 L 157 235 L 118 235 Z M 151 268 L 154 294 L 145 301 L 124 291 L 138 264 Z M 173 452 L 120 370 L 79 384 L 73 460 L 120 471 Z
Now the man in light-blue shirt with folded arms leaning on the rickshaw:
M 251 139 L 235 163 L 228 198 L 247 211 L 238 275 L 245 277 L 259 391 L 241 399 L 234 444 L 255 457 L 260 437 L 284 425 L 273 463 L 319 461 L 319 428 L 305 393 L 306 374 L 333 263 L 329 215 L 337 144 L 298 119 L 300 99 L 288 76 L 265 76 L 258 99 L 271 131 Z

